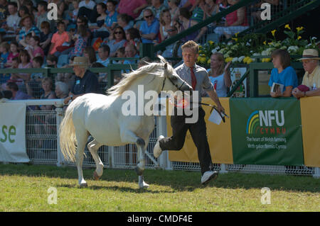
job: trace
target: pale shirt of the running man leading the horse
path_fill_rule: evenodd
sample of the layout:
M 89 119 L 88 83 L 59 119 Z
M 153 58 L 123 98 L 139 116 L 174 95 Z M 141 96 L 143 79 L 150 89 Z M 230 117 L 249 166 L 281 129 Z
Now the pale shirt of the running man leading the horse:
M 187 84 L 191 86 L 191 69 L 190 67 L 186 67 L 186 64 L 181 64 L 180 66 L 176 67 L 176 74 L 178 74 L 181 79 L 186 81 Z M 208 72 L 203 67 L 194 64 L 193 72 L 196 75 L 197 84 L 196 84 L 196 91 L 199 91 L 199 102 L 201 102 L 201 92 L 204 91 L 213 91 L 213 84 L 211 83 Z

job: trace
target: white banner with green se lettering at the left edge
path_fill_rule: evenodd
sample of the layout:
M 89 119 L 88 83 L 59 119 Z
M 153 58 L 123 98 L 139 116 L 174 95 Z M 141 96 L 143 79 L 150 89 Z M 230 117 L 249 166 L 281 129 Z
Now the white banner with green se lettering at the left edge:
M 0 162 L 29 162 L 26 103 L 0 103 Z

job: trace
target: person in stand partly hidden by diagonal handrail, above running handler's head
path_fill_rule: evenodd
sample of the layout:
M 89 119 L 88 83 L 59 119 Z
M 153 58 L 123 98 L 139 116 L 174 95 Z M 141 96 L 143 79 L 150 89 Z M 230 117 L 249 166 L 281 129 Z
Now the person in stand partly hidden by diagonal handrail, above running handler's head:
M 198 22 L 193 21 L 191 19 L 192 13 L 188 11 L 186 8 L 181 8 L 179 9 L 179 23 L 178 21 L 176 22 L 176 27 L 178 28 L 178 33 L 181 33 L 183 30 L 186 30 L 188 28 L 191 28 L 192 26 L 195 26 Z M 195 42 L 198 42 L 200 39 L 201 35 L 206 33 L 207 27 L 201 28 L 200 32 L 197 30 L 196 32 L 187 35 L 185 38 L 182 38 L 181 40 L 183 43 L 187 42 L 188 40 L 194 40 Z

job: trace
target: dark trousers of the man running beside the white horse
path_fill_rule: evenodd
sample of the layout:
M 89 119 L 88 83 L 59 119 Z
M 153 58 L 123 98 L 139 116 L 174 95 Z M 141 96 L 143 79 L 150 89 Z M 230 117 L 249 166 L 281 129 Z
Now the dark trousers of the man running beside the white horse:
M 198 159 L 201 167 L 201 174 L 212 167 L 210 149 L 207 140 L 207 129 L 204 116 L 206 113 L 202 108 L 198 108 L 198 121 L 196 123 L 186 123 L 186 118 L 191 116 L 171 115 L 172 136 L 159 141 L 162 150 L 178 151 L 186 140 L 186 132 L 189 130 L 192 140 L 198 149 Z

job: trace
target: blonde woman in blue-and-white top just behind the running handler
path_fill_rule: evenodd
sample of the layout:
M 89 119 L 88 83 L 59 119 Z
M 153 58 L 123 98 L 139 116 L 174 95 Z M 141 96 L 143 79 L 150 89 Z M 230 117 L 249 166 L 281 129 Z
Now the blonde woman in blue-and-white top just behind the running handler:
M 210 57 L 210 69 L 208 71 L 210 81 L 215 87 L 219 97 L 226 97 L 231 86 L 230 62 L 225 65 L 225 58 L 220 52 L 215 52 Z

